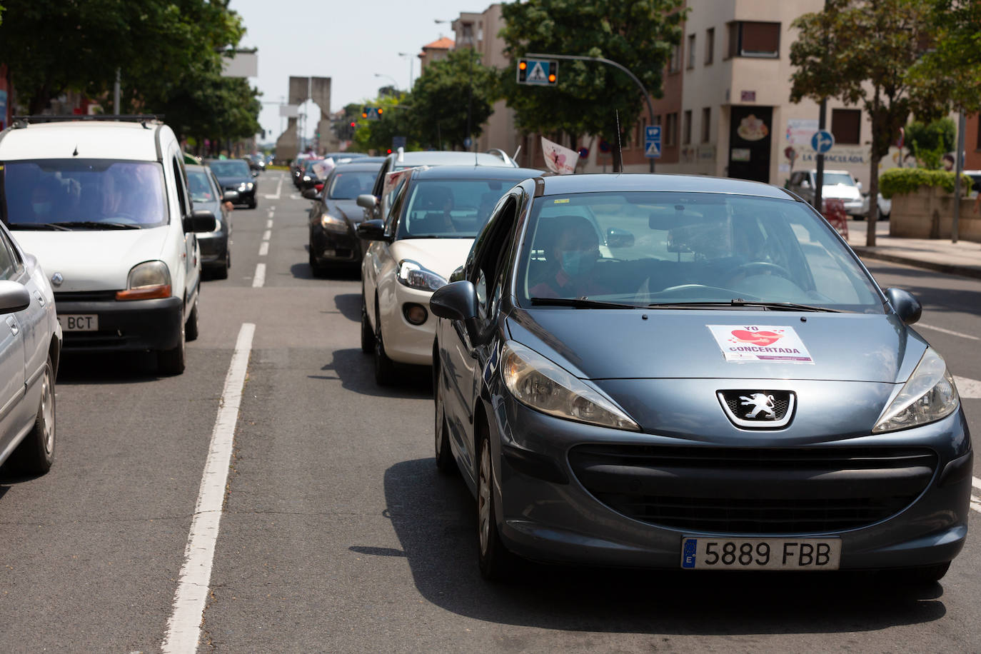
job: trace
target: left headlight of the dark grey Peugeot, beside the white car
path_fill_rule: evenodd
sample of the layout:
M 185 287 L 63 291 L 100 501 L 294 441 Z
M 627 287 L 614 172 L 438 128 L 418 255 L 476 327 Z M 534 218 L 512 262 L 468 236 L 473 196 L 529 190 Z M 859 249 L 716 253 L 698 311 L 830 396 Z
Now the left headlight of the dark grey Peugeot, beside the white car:
M 501 362 L 504 385 L 536 411 L 577 423 L 641 430 L 611 399 L 524 345 L 507 341 Z

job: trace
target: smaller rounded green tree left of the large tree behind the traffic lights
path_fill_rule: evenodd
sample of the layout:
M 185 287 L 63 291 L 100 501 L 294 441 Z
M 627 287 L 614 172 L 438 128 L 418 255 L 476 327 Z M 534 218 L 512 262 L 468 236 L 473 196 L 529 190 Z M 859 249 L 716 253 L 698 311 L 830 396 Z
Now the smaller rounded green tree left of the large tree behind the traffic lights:
M 404 102 L 410 107 L 412 134 L 421 143 L 464 148 L 468 136 L 481 134 L 500 96 L 496 71 L 480 59 L 472 48 L 450 50 L 416 79 Z

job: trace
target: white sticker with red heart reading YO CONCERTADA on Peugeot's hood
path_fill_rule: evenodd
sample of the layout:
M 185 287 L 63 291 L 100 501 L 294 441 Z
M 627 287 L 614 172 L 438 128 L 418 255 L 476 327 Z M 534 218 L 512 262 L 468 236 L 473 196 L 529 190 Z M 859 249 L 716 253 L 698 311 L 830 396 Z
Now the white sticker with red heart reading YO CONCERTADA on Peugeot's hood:
M 794 327 L 706 325 L 728 362 L 812 364 Z

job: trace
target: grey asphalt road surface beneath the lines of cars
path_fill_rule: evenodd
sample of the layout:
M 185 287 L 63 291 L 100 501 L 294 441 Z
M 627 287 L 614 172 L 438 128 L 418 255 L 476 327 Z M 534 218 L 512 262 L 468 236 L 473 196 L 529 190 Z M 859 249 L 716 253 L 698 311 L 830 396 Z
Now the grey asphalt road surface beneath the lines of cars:
M 0 470 L 3 651 L 162 648 L 243 324 L 255 331 L 200 652 L 981 650 L 973 537 L 917 591 L 865 575 L 541 566 L 484 582 L 474 501 L 436 473 L 428 377 L 375 385 L 358 277 L 312 278 L 309 203 L 288 180 L 277 194 L 280 176 L 233 214 L 231 275 L 204 284 L 184 375 L 157 377 L 148 356 L 66 356 L 55 467 Z M 919 330 L 953 373 L 981 379 L 981 281 L 868 265 L 920 297 Z M 981 433 L 981 399 L 963 403 Z

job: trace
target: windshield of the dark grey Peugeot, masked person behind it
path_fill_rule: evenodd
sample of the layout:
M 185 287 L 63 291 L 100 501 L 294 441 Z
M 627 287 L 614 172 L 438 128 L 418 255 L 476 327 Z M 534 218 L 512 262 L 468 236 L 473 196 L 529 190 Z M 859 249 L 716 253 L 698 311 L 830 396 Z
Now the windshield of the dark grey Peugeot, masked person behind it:
M 793 200 L 720 193 L 575 193 L 535 200 L 518 300 L 634 306 L 749 303 L 884 313 L 834 230 Z M 775 307 L 779 308 L 779 307 Z

